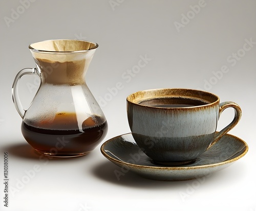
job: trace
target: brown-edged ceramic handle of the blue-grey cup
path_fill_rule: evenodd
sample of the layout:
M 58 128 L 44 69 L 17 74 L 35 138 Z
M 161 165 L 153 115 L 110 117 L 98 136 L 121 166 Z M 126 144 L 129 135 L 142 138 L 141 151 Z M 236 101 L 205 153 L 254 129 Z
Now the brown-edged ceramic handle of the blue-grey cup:
M 214 146 L 218 140 L 220 140 L 220 138 L 225 135 L 229 130 L 231 130 L 234 126 L 236 126 L 238 124 L 238 122 L 241 119 L 242 116 L 242 110 L 240 108 L 240 106 L 234 102 L 231 101 L 226 101 L 220 104 L 220 108 L 219 108 L 219 118 L 221 113 L 226 109 L 232 107 L 234 109 L 234 119 L 233 121 L 226 126 L 225 128 L 223 128 L 220 132 L 216 133 L 214 136 L 214 140 L 213 142 L 207 147 L 206 150 L 208 150 L 209 148 L 211 148 L 212 146 Z

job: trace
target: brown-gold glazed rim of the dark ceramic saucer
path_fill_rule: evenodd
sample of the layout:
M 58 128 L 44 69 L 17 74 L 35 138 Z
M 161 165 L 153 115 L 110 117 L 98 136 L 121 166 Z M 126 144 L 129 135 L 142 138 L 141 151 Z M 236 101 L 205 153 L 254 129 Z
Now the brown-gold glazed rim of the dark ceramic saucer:
M 216 131 L 218 132 L 218 131 Z M 232 163 L 238 159 L 240 159 L 241 157 L 243 157 L 247 152 L 248 152 L 248 145 L 247 143 L 241 139 L 240 137 L 238 136 L 235 136 L 235 135 L 232 135 L 232 134 L 228 134 L 226 133 L 225 135 L 223 136 L 231 136 L 232 138 L 235 138 L 237 140 L 239 140 L 239 142 L 242 142 L 243 145 L 245 146 L 243 148 L 243 150 L 245 149 L 245 151 L 237 156 L 237 157 L 234 157 L 232 159 L 228 159 L 228 160 L 225 160 L 225 161 L 222 161 L 222 162 L 217 162 L 217 163 L 212 163 L 212 164 L 208 164 L 208 165 L 200 165 L 200 166 L 191 166 L 191 167 L 160 167 L 160 166 L 144 166 L 144 165 L 137 165 L 137 164 L 133 164 L 133 163 L 129 163 L 129 162 L 125 162 L 125 161 L 121 161 L 121 160 L 118 160 L 118 159 L 115 159 L 113 157 L 111 157 L 110 155 L 108 155 L 105 151 L 104 151 L 104 146 L 110 142 L 113 141 L 113 139 L 117 138 L 117 137 L 120 137 L 120 136 L 124 136 L 124 135 L 129 135 L 129 134 L 132 134 L 132 132 L 130 133 L 124 133 L 124 134 L 121 134 L 121 135 L 117 135 L 115 137 L 112 137 L 108 140 L 106 140 L 100 147 L 100 151 L 101 153 L 103 154 L 103 156 L 105 156 L 106 158 L 108 158 L 109 160 L 111 161 L 114 161 L 114 162 L 118 162 L 120 163 L 121 165 L 127 165 L 127 166 L 131 166 L 131 167 L 137 167 L 137 168 L 147 168 L 147 169 L 162 169 L 162 170 L 191 170 L 191 169 L 204 169 L 204 168 L 214 168 L 214 167 L 217 167 L 217 166 L 222 166 L 222 165 L 225 165 L 227 163 Z M 136 144 L 136 143 L 135 143 Z M 242 151 L 242 150 L 241 150 Z

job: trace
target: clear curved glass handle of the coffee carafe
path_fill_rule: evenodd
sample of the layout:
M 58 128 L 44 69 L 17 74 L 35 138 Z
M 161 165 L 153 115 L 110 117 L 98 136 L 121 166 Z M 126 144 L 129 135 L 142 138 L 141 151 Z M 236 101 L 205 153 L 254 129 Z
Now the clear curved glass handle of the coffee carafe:
M 18 113 L 22 117 L 22 119 L 23 119 L 23 116 L 24 116 L 26 110 L 23 108 L 22 103 L 19 100 L 18 82 L 22 76 L 27 75 L 27 74 L 28 75 L 36 74 L 37 76 L 40 77 L 40 73 L 37 71 L 37 68 L 24 68 L 18 72 L 18 74 L 16 75 L 16 77 L 13 81 L 13 84 L 12 84 L 12 100 L 13 100 L 16 110 L 18 111 Z

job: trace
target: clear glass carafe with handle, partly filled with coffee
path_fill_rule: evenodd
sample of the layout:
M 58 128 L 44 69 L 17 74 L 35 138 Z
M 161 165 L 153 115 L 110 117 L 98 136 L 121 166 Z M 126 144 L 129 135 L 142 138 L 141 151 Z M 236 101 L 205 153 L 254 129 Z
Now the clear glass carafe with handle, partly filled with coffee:
M 105 137 L 105 116 L 84 78 L 97 47 L 83 40 L 29 45 L 36 67 L 17 74 L 12 93 L 23 119 L 22 134 L 38 152 L 57 157 L 86 155 Z M 41 81 L 27 110 L 18 97 L 18 82 L 25 74 L 38 75 Z

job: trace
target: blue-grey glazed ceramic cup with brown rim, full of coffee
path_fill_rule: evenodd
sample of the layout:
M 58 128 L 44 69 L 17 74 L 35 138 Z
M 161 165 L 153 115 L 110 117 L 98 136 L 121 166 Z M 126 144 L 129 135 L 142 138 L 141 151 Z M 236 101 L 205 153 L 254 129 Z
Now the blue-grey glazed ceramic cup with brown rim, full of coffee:
M 127 118 L 137 145 L 154 162 L 193 162 L 241 119 L 233 102 L 220 103 L 213 93 L 194 89 L 150 89 L 128 96 Z M 232 122 L 216 132 L 220 114 L 232 107 Z

